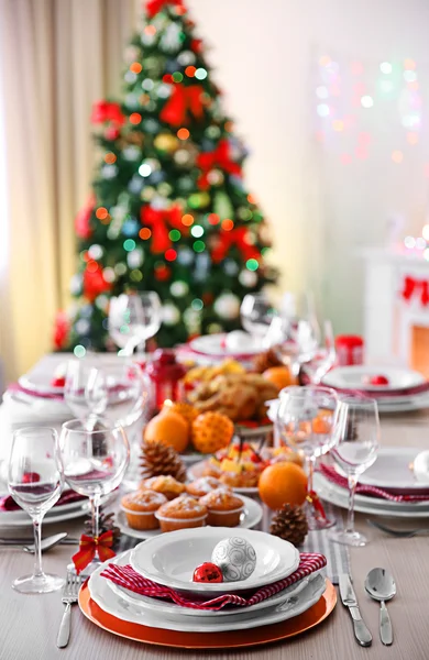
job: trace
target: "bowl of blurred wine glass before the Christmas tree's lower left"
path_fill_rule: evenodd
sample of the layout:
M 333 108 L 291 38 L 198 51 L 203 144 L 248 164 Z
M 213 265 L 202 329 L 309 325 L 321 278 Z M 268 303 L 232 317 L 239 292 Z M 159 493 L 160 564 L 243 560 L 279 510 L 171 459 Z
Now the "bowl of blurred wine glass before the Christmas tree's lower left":
M 156 334 L 162 305 L 155 292 L 133 292 L 110 299 L 109 334 L 123 354 L 132 355 L 139 344 Z

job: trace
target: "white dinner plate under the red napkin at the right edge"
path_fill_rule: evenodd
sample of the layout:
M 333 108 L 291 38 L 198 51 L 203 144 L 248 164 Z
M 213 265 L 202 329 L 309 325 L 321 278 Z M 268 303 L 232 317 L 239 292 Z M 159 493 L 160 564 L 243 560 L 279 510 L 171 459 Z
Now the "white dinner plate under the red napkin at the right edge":
M 315 474 L 315 491 L 321 499 L 329 502 L 340 508 L 349 508 L 349 493 L 321 474 Z M 384 516 L 386 518 L 429 518 L 429 501 L 413 503 L 389 502 L 377 497 L 356 495 L 354 510 L 372 516 Z

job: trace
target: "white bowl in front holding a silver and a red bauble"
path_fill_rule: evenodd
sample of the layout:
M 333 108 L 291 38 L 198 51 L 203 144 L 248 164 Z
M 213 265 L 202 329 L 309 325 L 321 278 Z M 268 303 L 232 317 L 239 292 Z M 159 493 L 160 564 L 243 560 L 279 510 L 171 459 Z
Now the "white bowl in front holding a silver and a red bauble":
M 256 568 L 252 575 L 240 582 L 193 582 L 195 568 L 209 560 L 217 543 L 237 536 L 249 541 L 256 552 Z M 153 582 L 209 598 L 220 593 L 257 588 L 287 578 L 299 564 L 299 552 L 288 541 L 264 531 L 200 527 L 170 531 L 140 543 L 131 552 L 130 562 L 134 571 Z

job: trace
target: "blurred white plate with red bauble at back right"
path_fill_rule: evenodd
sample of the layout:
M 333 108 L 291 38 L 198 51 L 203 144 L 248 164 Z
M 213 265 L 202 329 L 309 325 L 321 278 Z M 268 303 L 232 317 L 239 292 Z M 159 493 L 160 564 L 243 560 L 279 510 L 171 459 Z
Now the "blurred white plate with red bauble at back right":
M 388 385 L 365 385 L 365 376 L 383 374 L 388 378 Z M 364 389 L 365 392 L 398 391 L 422 385 L 426 378 L 410 369 L 393 366 L 338 366 L 323 376 L 322 383 L 337 389 Z

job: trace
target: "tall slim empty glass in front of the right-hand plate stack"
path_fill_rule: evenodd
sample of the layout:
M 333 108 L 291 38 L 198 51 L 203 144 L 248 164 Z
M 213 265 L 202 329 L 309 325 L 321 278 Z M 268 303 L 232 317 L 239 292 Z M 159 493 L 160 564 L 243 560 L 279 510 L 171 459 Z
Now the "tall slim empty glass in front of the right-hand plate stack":
M 354 529 L 354 496 L 359 476 L 375 462 L 380 442 L 377 403 L 363 396 L 340 396 L 333 421 L 336 446 L 331 457 L 349 482 L 349 513 L 344 530 L 332 530 L 330 539 L 346 546 L 365 546 L 367 539 Z

